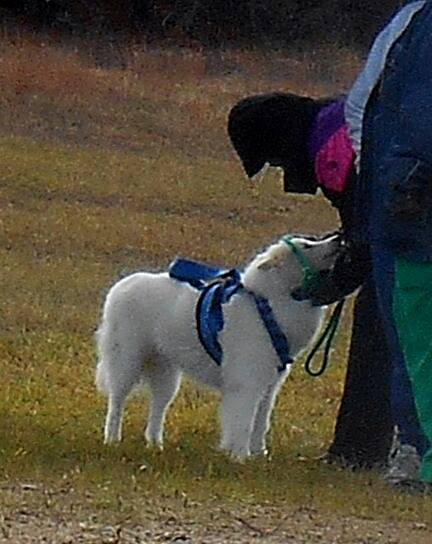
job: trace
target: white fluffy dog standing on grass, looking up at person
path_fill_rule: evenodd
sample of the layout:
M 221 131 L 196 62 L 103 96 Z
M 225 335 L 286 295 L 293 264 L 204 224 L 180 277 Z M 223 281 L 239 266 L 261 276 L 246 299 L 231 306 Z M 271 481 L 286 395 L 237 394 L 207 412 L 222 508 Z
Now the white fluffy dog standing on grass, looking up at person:
M 197 334 L 198 289 L 166 272 L 140 272 L 116 283 L 97 332 L 96 382 L 108 396 L 105 442 L 121 439 L 126 397 L 145 383 L 152 394 L 145 436 L 161 447 L 165 415 L 185 373 L 221 393 L 220 448 L 240 460 L 264 454 L 275 397 L 291 365 L 281 365 L 255 295 L 268 301 L 293 359 L 312 341 L 324 312 L 291 296 L 304 275 L 299 252 L 320 271 L 330 268 L 339 246 L 337 236 L 285 238 L 257 255 L 241 274 L 243 287 L 222 307 L 220 365 Z

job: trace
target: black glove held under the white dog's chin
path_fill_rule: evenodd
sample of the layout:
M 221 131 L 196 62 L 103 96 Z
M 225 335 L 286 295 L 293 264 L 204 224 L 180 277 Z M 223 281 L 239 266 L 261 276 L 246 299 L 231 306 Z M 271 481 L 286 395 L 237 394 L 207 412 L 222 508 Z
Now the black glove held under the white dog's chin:
M 298 301 L 310 300 L 314 306 L 332 304 L 360 287 L 369 267 L 367 247 L 347 243 L 330 270 L 320 271 L 316 281 L 294 289 L 291 295 Z

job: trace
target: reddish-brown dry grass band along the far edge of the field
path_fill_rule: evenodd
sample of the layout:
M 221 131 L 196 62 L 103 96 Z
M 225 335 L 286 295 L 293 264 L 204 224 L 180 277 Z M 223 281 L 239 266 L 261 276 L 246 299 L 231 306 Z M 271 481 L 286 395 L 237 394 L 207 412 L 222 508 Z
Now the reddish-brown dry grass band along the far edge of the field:
M 0 50 L 5 129 L 72 144 L 142 151 L 153 143 L 208 156 L 227 150 L 227 106 L 240 97 L 275 89 L 340 91 L 359 62 L 337 49 L 287 55 L 131 45 L 105 51 L 113 67 L 104 69 L 97 60 L 100 48 L 28 37 L 5 41 Z M 114 62 L 119 57 L 121 68 Z

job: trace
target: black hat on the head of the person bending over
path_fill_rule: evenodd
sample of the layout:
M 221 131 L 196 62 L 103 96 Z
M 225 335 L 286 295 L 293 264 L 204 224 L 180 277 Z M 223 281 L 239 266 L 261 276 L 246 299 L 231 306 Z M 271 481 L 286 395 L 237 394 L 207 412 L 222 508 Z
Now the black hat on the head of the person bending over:
M 303 96 L 272 93 L 247 97 L 230 111 L 228 134 L 246 174 L 257 174 L 268 162 L 284 170 L 284 190 L 317 190 L 308 139 L 325 103 Z

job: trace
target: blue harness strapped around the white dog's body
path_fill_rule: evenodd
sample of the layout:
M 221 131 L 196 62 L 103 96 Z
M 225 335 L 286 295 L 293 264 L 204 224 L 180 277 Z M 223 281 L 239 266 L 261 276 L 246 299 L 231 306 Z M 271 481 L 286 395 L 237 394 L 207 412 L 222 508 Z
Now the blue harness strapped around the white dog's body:
M 204 349 L 218 365 L 222 363 L 223 357 L 222 347 L 218 340 L 218 335 L 224 326 L 222 306 L 240 292 L 247 293 L 255 303 L 279 357 L 278 372 L 283 372 L 293 363 L 289 355 L 288 340 L 276 321 L 269 301 L 246 289 L 241 282 L 238 270 L 224 270 L 196 261 L 176 259 L 169 267 L 169 275 L 201 291 L 195 308 L 197 333 Z

